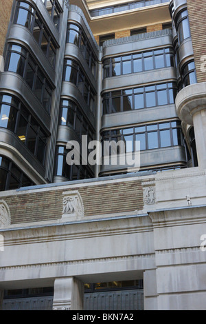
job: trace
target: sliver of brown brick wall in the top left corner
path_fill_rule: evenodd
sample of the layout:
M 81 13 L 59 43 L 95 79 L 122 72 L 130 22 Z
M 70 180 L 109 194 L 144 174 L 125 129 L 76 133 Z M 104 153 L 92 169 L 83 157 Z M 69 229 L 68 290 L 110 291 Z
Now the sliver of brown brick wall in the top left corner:
M 8 24 L 12 10 L 13 0 L 0 0 L 0 55 L 3 55 L 5 37 L 8 32 Z

